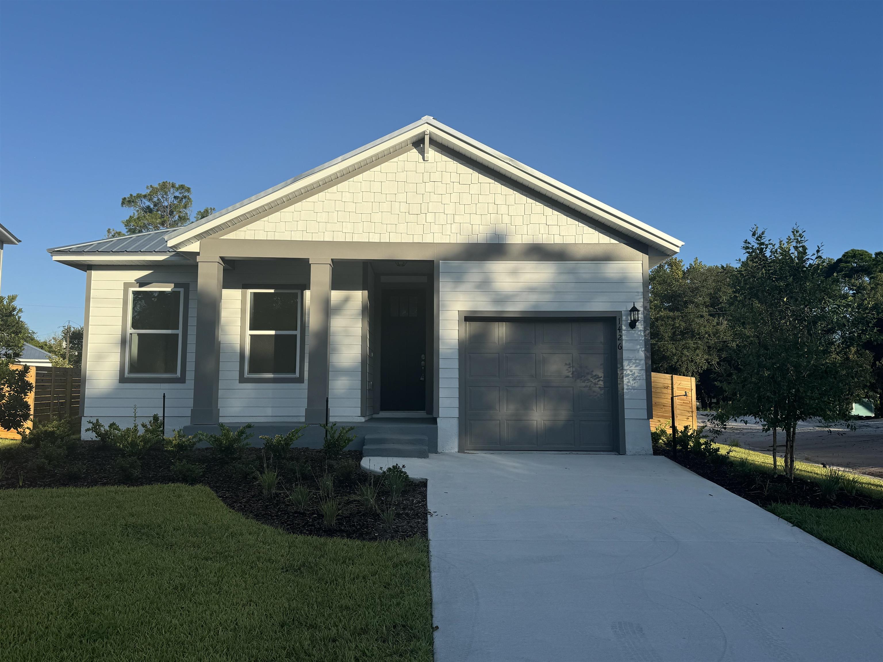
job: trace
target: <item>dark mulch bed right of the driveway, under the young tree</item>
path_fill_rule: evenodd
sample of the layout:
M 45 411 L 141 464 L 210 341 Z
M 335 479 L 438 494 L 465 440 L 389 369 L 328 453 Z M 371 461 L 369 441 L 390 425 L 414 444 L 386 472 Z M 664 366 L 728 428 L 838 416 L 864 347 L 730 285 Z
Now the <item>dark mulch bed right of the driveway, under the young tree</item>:
M 653 445 L 653 455 L 664 455 L 669 460 L 675 460 L 671 455 L 670 448 L 655 444 Z M 822 495 L 819 483 L 815 481 L 804 478 L 794 478 L 791 481 L 783 474 L 774 477 L 772 474 L 759 471 L 738 470 L 732 462 L 727 460 L 713 462 L 702 455 L 695 455 L 680 449 L 675 462 L 702 478 L 710 480 L 715 485 L 721 485 L 729 492 L 761 507 L 774 503 L 795 503 L 812 508 L 863 508 L 866 510 L 883 508 L 883 499 L 874 499 L 859 493 L 850 496 L 847 493 L 839 492 L 835 500 L 830 500 Z

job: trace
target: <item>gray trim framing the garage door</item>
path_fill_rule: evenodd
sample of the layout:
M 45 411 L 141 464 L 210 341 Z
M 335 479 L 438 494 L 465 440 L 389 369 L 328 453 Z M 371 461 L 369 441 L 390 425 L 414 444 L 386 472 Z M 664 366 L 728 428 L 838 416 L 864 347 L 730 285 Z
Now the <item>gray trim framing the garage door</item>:
M 466 373 L 466 321 L 478 319 L 488 321 L 506 320 L 561 320 L 585 321 L 600 320 L 612 322 L 613 342 L 616 343 L 616 385 L 619 397 L 613 412 L 615 436 L 619 438 L 619 453 L 625 455 L 625 373 L 623 370 L 623 312 L 622 311 L 460 311 L 457 325 L 457 451 L 466 450 L 466 389 L 463 375 Z M 540 451 L 542 452 L 542 451 Z

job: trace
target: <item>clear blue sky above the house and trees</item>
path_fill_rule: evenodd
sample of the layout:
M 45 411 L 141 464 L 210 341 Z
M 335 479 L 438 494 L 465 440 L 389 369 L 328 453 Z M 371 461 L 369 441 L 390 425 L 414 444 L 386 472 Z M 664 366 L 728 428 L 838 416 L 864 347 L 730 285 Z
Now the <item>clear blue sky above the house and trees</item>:
M 883 249 L 883 4 L 0 4 L 3 293 L 40 335 L 126 194 L 226 207 L 432 115 L 733 262 Z

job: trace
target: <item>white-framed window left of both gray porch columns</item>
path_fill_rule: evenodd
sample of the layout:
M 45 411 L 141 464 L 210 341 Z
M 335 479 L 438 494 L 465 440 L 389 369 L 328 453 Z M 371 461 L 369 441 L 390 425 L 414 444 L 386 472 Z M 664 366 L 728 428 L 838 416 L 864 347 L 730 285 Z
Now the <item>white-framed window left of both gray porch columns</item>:
M 178 377 L 181 374 L 182 288 L 131 288 L 125 374 Z

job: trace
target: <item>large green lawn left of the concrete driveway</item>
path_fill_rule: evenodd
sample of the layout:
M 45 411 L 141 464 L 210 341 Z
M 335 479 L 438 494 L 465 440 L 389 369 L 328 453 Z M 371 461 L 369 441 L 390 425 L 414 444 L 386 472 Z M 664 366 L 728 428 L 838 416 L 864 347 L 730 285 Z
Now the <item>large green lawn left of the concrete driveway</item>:
M 292 536 L 207 487 L 0 491 L 7 660 L 431 660 L 426 540 Z

